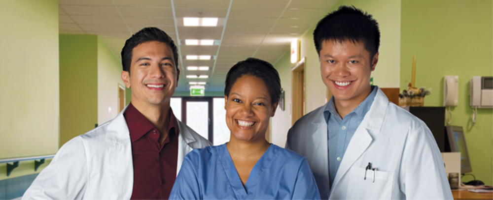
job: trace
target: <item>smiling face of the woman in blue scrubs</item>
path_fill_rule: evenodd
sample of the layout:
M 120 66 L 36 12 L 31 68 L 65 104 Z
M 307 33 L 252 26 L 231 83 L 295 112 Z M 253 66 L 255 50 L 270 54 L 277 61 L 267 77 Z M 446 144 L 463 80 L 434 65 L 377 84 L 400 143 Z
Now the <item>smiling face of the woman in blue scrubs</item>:
M 272 105 L 269 90 L 262 79 L 248 75 L 238 78 L 224 100 L 231 141 L 265 140 L 269 119 L 274 116 L 277 104 Z

